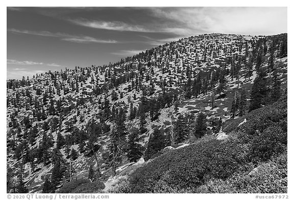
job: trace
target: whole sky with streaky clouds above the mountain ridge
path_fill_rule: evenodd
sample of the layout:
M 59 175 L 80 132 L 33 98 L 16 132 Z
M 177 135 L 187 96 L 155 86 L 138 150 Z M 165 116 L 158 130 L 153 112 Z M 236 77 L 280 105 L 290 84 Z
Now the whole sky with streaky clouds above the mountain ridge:
M 205 33 L 287 33 L 287 7 L 7 7 L 7 79 L 114 63 Z

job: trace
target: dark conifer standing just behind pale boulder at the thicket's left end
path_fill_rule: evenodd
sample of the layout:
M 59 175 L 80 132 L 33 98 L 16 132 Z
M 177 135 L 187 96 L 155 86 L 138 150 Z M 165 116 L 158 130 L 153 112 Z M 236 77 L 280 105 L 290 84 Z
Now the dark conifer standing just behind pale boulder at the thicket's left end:
M 130 162 L 137 162 L 143 155 L 143 146 L 139 144 L 139 130 L 132 127 L 128 138 L 127 157 Z

